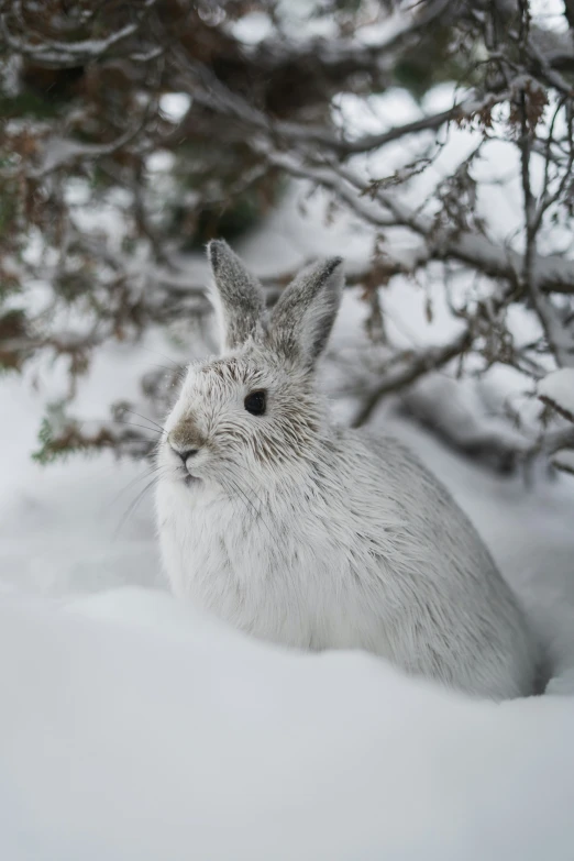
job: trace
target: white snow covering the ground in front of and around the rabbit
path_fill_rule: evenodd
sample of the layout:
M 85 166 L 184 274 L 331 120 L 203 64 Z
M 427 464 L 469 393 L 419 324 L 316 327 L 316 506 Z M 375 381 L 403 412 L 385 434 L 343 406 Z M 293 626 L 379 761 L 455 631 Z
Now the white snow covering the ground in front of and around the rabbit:
M 329 242 L 352 258 L 368 245 L 336 225 Z M 240 250 L 264 272 L 328 245 L 291 212 Z M 363 313 L 346 302 L 342 345 Z M 422 336 L 418 308 L 409 332 Z M 103 352 L 82 415 L 133 396 L 148 349 L 170 351 L 155 334 L 144 346 Z M 549 693 L 494 705 L 367 655 L 256 643 L 177 605 L 152 494 L 123 521 L 146 468 L 107 456 L 33 463 L 30 377 L 0 382 L 0 858 L 574 857 L 573 477 L 527 487 L 377 418 L 450 487 L 552 651 Z

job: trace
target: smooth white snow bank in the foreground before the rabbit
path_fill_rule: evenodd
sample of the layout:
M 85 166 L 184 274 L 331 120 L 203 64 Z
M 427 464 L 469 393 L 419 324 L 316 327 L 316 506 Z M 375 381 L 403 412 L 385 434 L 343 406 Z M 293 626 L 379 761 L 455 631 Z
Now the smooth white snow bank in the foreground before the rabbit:
M 571 697 L 463 699 L 143 590 L 4 597 L 0 677 L 10 861 L 572 858 Z

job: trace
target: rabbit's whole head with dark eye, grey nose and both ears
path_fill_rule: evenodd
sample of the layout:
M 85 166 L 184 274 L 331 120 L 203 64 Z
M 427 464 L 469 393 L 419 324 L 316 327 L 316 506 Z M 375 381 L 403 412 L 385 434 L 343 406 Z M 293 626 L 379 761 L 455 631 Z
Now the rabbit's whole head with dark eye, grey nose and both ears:
M 225 486 L 296 475 L 323 427 L 314 365 L 343 287 L 341 260 L 305 269 L 271 316 L 256 278 L 221 241 L 209 244 L 220 355 L 190 365 L 161 446 L 163 477 Z

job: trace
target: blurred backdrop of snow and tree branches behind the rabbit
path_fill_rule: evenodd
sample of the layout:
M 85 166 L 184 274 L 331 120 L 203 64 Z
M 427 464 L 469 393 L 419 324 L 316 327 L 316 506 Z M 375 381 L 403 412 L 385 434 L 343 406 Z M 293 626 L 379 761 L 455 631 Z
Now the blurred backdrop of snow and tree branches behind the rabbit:
M 539 606 L 550 554 L 574 589 L 574 3 L 0 14 L 4 586 L 161 582 L 151 459 L 216 350 L 217 236 L 269 306 L 341 254 L 336 417 L 413 445 Z

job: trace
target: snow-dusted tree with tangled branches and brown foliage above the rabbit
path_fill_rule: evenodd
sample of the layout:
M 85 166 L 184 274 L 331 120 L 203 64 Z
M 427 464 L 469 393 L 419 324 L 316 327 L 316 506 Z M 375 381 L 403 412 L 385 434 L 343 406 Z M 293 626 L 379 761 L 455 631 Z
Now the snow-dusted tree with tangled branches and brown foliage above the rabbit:
M 110 339 L 201 321 L 202 285 L 180 252 L 254 223 L 289 177 L 321 188 L 373 236 L 371 258 L 350 278 L 369 307 L 355 424 L 397 394 L 432 421 L 413 386 L 438 369 L 479 376 L 505 365 L 534 395 L 549 372 L 574 365 L 572 3 L 549 16 L 528 0 L 322 0 L 309 4 L 306 26 L 288 7 L 0 3 L 0 363 L 18 371 L 49 353 L 66 357 L 70 379 L 44 422 L 41 459 L 148 453 L 142 429 L 123 423 L 126 405 L 92 428 L 70 418 L 82 373 Z M 440 81 L 445 107 L 394 125 L 378 118 L 368 133 L 345 107 L 372 107 L 397 87 L 422 104 Z M 437 178 L 460 129 L 473 131 L 473 146 Z M 501 143 L 514 156 L 496 181 L 520 186 L 520 219 L 507 233 L 482 206 L 493 177 L 481 159 Z M 153 158 L 165 169 L 151 170 Z M 106 219 L 90 219 L 95 209 Z M 289 275 L 266 280 L 269 303 Z M 384 288 L 405 277 L 420 283 L 429 316 L 426 285 L 444 285 L 457 325 L 443 343 L 405 349 L 386 331 Z M 32 301 L 26 285 L 40 278 L 48 289 Z M 70 308 L 73 329 L 63 323 Z M 180 369 L 168 373 L 177 379 Z M 165 369 L 146 376 L 152 404 L 165 391 Z M 520 422 L 519 410 L 506 412 Z M 574 448 L 572 427 L 547 429 L 551 416 L 542 410 L 511 442 L 497 433 L 468 442 L 448 422 L 441 432 L 510 468 Z

